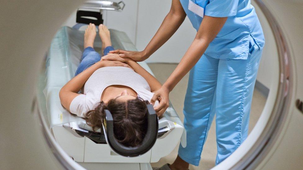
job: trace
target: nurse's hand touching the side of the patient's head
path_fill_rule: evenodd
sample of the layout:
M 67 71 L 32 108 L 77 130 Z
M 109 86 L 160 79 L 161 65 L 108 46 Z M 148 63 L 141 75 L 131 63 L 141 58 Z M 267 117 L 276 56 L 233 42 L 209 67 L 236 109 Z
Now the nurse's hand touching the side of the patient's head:
M 163 115 L 166 109 L 169 106 L 169 89 L 165 86 L 162 86 L 160 89 L 155 91 L 155 94 L 152 96 L 151 104 L 154 105 L 156 100 L 159 100 L 159 105 L 154 107 L 157 112 L 158 117 Z

